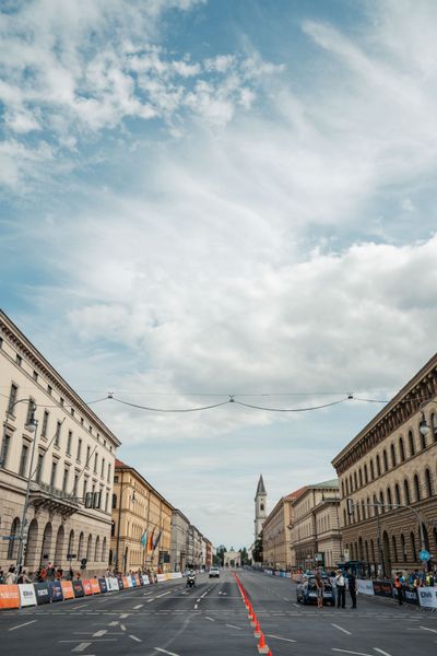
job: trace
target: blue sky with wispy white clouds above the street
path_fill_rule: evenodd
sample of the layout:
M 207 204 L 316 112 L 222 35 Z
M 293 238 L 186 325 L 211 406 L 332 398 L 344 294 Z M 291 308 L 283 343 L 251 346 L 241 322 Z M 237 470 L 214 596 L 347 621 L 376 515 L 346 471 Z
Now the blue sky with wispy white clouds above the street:
M 3 0 L 0 304 L 85 400 L 390 399 L 437 325 L 434 0 Z M 94 406 L 213 543 L 383 405 Z

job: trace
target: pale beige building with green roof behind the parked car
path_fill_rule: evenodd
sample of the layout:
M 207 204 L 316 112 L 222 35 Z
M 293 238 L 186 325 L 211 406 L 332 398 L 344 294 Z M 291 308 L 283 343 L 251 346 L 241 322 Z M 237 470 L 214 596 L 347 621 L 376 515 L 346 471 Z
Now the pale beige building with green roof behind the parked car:
M 292 567 L 334 567 L 342 557 L 339 481 L 307 485 L 292 502 Z

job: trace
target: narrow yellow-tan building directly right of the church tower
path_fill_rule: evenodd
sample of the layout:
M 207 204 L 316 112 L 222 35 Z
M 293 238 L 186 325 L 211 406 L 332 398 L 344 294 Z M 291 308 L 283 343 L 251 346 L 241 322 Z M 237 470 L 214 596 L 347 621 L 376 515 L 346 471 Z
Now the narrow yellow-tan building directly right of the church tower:
M 282 496 L 263 523 L 263 563 L 268 567 L 288 570 L 292 566 L 290 525 L 293 520 L 293 502 L 304 490 L 300 488 Z

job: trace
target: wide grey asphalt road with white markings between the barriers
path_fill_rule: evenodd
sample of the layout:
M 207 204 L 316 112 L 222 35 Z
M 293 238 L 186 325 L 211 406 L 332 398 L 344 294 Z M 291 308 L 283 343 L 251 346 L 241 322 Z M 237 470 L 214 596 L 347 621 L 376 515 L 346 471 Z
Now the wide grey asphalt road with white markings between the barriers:
M 300 607 L 288 579 L 239 573 L 273 656 L 430 656 L 437 614 L 358 598 L 356 610 Z M 0 653 L 14 656 L 256 656 L 229 572 L 0 613 Z

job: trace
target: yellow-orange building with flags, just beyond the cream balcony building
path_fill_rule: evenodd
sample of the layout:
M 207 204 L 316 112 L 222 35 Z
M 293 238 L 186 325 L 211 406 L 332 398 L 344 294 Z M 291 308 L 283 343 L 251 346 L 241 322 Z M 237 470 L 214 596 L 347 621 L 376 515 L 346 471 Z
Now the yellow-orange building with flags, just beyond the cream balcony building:
M 173 506 L 133 467 L 116 461 L 109 566 L 170 571 Z M 147 543 L 141 539 L 146 532 Z

